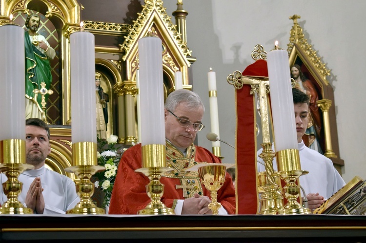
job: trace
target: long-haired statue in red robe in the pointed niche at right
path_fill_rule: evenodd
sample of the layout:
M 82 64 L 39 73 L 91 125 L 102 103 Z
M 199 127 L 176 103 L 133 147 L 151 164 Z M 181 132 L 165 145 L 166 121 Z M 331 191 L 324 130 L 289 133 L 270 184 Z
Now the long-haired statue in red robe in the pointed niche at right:
M 304 143 L 308 148 L 323 154 L 320 144 L 320 131 L 322 129 L 321 112 L 316 104 L 319 99 L 318 92 L 314 84 L 305 77 L 299 65 L 295 64 L 291 67 L 291 76 L 295 79 L 295 88 L 310 96 L 308 124 L 303 136 Z

